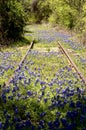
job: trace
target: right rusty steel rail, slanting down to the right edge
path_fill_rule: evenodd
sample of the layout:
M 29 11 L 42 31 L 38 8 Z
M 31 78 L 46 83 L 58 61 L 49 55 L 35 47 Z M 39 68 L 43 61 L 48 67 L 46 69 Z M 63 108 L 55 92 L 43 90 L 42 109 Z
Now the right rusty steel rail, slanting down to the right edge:
M 76 64 L 72 61 L 71 57 L 69 56 L 69 54 L 67 53 L 67 51 L 62 47 L 62 45 L 60 44 L 60 42 L 58 41 L 58 45 L 59 45 L 59 49 L 62 51 L 62 53 L 65 54 L 65 56 L 67 57 L 68 61 L 70 62 L 70 64 L 72 65 L 72 67 L 74 68 L 74 70 L 77 72 L 78 76 L 80 77 L 80 79 L 83 81 L 83 83 L 86 85 L 86 78 L 83 76 L 83 74 L 79 71 L 78 67 L 76 66 Z

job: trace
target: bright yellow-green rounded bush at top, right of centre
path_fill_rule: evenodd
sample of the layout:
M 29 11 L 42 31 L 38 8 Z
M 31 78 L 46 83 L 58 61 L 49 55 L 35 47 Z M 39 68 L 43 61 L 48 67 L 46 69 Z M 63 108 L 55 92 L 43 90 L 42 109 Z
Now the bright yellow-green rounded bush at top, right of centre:
M 54 0 L 52 3 L 52 15 L 49 21 L 72 29 L 75 26 L 76 14 L 77 11 L 71 9 L 70 5 L 66 4 L 64 0 Z

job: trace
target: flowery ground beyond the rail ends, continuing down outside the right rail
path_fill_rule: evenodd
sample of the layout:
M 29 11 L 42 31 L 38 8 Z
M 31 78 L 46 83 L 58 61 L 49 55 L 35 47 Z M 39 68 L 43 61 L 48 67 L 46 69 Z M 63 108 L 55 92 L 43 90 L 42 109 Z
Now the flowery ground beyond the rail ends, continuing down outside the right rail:
M 71 35 L 68 32 L 58 30 L 56 28 L 52 28 L 49 25 L 34 25 L 27 26 L 26 29 L 30 30 L 31 33 L 26 33 L 26 36 L 34 37 L 38 40 L 39 44 L 37 44 L 38 48 L 42 47 L 46 50 L 57 50 L 56 46 L 53 43 L 57 43 L 57 41 L 61 41 L 63 47 L 66 48 L 70 56 L 72 57 L 75 64 L 78 66 L 80 71 L 86 76 L 86 47 L 82 45 L 82 43 L 78 43 L 75 35 Z M 74 40 L 75 39 L 75 40 Z M 45 43 L 41 44 L 40 43 Z M 50 46 L 48 45 L 50 44 Z M 37 49 L 37 48 L 36 48 Z

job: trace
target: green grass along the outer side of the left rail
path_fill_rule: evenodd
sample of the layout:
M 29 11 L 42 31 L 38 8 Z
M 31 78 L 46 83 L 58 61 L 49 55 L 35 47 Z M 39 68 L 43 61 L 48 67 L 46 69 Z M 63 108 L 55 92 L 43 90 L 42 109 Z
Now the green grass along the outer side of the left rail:
M 20 61 L 22 60 L 22 58 L 25 56 L 30 42 L 32 41 L 32 39 L 29 39 L 28 37 L 21 39 L 21 41 L 17 41 L 14 42 L 12 44 L 10 44 L 9 46 L 4 46 L 3 48 L 1 48 L 1 52 L 14 52 L 13 55 L 10 56 L 10 64 L 12 64 L 14 66 L 13 69 L 9 69 L 8 71 L 4 72 L 3 76 L 0 76 L 0 84 L 3 85 L 4 82 L 7 82 L 8 79 L 13 75 L 14 70 L 18 67 Z M 18 53 L 20 54 L 18 56 Z M 6 60 L 6 62 L 8 62 Z M 0 64 L 2 63 L 2 60 L 0 60 Z M 15 64 L 15 65 L 14 65 Z

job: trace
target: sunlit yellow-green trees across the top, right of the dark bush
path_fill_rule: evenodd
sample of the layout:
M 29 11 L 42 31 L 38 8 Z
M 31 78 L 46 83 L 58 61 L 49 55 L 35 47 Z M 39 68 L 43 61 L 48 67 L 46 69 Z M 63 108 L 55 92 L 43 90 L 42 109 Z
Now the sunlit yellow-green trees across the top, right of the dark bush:
M 34 22 L 49 21 L 77 31 L 85 27 L 85 8 L 84 0 L 33 0 L 31 4 Z

